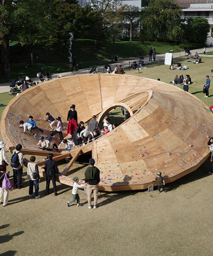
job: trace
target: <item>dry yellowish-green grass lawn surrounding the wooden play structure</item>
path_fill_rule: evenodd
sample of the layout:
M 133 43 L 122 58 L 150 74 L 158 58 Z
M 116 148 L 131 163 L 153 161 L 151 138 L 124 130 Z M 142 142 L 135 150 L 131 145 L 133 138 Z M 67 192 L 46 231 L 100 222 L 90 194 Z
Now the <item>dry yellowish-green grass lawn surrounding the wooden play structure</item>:
M 163 62 L 156 62 L 147 64 L 148 68 L 139 74 L 135 70 L 125 72 L 160 78 L 166 83 L 176 74 L 189 74 L 192 81 L 197 82 L 190 85 L 189 92 L 210 106 L 212 97 L 204 98 L 202 88 L 213 64 L 210 58 L 202 60 L 202 64 L 188 64 L 185 57 L 175 58 L 175 63 L 190 67 L 185 71 L 171 71 Z M 9 99 L 11 96 L 7 93 L 0 94 L 0 103 L 7 104 Z M 196 111 L 196 106 L 192 108 Z M 0 115 L 2 110 L 0 108 Z M 118 110 L 115 113 L 116 118 L 121 118 Z M 61 164 L 60 169 L 65 166 Z M 73 168 L 78 168 L 75 175 L 82 178 L 85 166 L 75 164 Z M 51 194 L 45 196 L 43 178 L 39 185 L 41 198 L 29 198 L 24 168 L 25 187 L 9 192 L 7 207 L 0 205 L 0 255 L 211 256 L 213 175 L 208 175 L 210 169 L 208 159 L 195 172 L 166 184 L 167 193 L 158 194 L 156 189 L 153 192 L 100 192 L 97 209 L 89 210 L 82 190 L 79 195 L 83 207 L 66 206 L 71 200 L 71 187 L 60 183 L 57 183 L 57 197 L 52 185 Z M 8 170 L 11 171 L 10 166 Z

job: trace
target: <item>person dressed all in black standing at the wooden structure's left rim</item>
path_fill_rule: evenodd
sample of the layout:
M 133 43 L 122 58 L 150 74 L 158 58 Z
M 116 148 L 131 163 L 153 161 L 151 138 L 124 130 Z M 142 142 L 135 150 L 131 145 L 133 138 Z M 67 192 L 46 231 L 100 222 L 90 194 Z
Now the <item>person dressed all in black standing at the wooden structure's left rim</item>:
M 47 175 L 46 177 L 46 195 L 49 195 L 49 188 L 50 188 L 50 180 L 52 179 L 54 195 L 57 196 L 57 187 L 56 187 L 56 175 L 58 173 L 58 167 L 56 165 L 56 161 L 53 160 L 53 154 L 48 154 L 48 160 L 45 161 L 44 170 Z

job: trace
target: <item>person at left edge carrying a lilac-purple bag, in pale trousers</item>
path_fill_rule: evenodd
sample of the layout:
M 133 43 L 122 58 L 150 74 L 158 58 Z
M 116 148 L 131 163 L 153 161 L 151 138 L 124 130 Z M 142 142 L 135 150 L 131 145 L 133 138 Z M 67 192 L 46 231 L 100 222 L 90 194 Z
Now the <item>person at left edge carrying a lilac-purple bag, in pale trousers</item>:
M 0 203 L 3 200 L 3 207 L 8 204 L 9 189 L 11 186 L 9 172 L 5 173 L 4 171 L 0 171 Z

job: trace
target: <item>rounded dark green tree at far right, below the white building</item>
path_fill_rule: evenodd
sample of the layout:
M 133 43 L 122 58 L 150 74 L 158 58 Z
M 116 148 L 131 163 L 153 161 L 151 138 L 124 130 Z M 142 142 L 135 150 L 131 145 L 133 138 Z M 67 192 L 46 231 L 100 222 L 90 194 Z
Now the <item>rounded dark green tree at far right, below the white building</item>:
M 189 42 L 205 44 L 210 25 L 208 20 L 202 17 L 183 19 L 181 28 L 184 32 L 184 39 Z

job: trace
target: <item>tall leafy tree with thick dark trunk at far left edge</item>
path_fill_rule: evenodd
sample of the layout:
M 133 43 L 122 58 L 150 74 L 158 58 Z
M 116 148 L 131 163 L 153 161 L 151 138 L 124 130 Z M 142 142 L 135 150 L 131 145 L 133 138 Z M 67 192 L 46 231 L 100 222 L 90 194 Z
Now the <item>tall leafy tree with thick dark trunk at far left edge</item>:
M 2 76 L 10 77 L 9 39 L 14 29 L 14 11 L 19 0 L 0 0 L 0 40 Z

